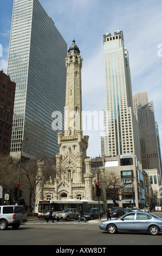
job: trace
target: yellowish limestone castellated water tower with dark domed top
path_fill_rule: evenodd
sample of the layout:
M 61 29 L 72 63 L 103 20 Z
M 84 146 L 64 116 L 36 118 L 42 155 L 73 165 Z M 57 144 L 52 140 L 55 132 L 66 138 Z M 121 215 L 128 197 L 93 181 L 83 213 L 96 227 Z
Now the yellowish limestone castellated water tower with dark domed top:
M 57 133 L 60 154 L 56 155 L 55 198 L 59 200 L 62 194 L 67 199 L 92 199 L 92 174 L 90 161 L 86 160 L 89 136 L 82 133 L 82 61 L 79 47 L 73 40 L 66 57 L 64 136 L 62 132 Z

